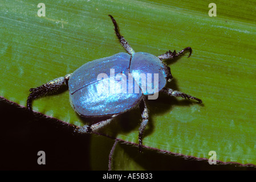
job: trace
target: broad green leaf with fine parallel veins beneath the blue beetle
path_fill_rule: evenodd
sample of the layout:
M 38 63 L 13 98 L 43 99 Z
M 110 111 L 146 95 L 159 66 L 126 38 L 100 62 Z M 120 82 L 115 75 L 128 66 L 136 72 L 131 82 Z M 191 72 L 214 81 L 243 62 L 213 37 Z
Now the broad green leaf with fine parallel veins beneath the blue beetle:
M 124 52 L 108 14 L 136 52 L 161 55 L 192 47 L 166 61 L 170 88 L 203 104 L 160 94 L 148 100 L 151 118 L 143 144 L 170 154 L 256 165 L 256 2 L 215 1 L 34 1 L 0 5 L 0 96 L 25 106 L 29 89 L 72 73 L 84 63 Z M 40 98 L 33 109 L 82 126 L 68 92 Z M 102 133 L 137 143 L 140 110 L 116 118 Z M 132 158 L 132 156 L 130 156 Z

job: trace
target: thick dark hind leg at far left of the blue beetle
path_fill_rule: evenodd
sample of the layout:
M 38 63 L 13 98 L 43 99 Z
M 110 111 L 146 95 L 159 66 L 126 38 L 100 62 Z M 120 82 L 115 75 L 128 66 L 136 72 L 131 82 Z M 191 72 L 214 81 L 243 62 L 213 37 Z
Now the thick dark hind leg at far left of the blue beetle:
M 27 108 L 32 111 L 32 100 L 38 97 L 46 96 L 47 94 L 57 92 L 64 84 L 68 85 L 68 80 L 72 74 L 64 77 L 59 77 L 47 82 L 37 88 L 31 88 L 29 97 L 27 98 Z

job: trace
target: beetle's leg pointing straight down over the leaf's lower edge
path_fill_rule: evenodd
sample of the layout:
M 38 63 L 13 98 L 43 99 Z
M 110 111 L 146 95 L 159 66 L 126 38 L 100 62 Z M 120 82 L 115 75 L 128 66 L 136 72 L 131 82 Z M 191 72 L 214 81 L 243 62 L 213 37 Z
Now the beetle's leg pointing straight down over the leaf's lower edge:
M 144 104 L 144 109 L 143 109 L 143 113 L 141 114 L 141 117 L 143 120 L 140 123 L 140 128 L 139 128 L 139 152 L 141 152 L 142 150 L 142 137 L 149 119 L 148 108 L 145 102 L 145 98 L 143 98 L 143 104 Z

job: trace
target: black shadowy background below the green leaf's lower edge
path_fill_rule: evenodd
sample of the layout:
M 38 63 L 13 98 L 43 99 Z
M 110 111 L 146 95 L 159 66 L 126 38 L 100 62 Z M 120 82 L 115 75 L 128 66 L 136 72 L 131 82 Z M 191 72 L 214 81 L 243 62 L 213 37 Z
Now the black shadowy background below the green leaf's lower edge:
M 95 170 L 90 159 L 91 135 L 74 134 L 75 126 L 43 114 L 31 114 L 25 107 L 0 97 L 0 170 Z M 111 139 L 109 139 L 111 140 Z M 109 143 L 107 150 L 111 150 Z M 108 145 L 108 144 L 107 144 Z M 106 144 L 103 144 L 105 147 Z M 131 156 L 137 147 L 119 144 Z M 38 151 L 46 153 L 46 164 L 39 165 Z M 147 170 L 255 170 L 239 164 L 209 165 L 206 160 L 162 155 L 145 149 L 137 163 Z M 101 168 L 108 169 L 108 152 L 99 151 Z

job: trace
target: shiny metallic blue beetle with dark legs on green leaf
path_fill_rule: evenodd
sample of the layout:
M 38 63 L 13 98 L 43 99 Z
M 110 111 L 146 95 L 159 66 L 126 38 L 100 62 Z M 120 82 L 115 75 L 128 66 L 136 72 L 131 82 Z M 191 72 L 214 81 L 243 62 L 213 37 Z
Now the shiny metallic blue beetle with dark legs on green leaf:
M 149 118 L 146 98 L 161 91 L 169 96 L 192 98 L 202 103 L 199 98 L 165 87 L 166 82 L 172 79 L 172 74 L 170 68 L 162 60 L 173 59 L 184 51 L 190 51 L 190 56 L 192 49 L 186 47 L 178 53 L 175 50 L 167 51 L 158 57 L 146 52 L 135 52 L 120 35 L 116 20 L 111 15 L 109 17 L 115 27 L 116 36 L 127 53 L 117 53 L 110 57 L 91 61 L 76 69 L 74 73 L 56 78 L 37 88 L 31 88 L 31 93 L 27 98 L 27 108 L 32 111 L 32 100 L 55 93 L 63 85 L 67 85 L 71 106 L 79 115 L 105 118 L 103 121 L 76 129 L 78 133 L 91 133 L 107 125 L 117 115 L 131 110 L 143 102 L 144 109 L 141 113 L 143 121 L 139 128 L 139 151 L 141 151 L 143 132 Z M 110 74 L 107 75 L 107 72 Z M 119 79 L 116 78 L 118 76 Z M 127 76 L 128 82 L 126 82 Z M 147 80 L 146 84 L 143 83 L 145 80 Z M 150 84 L 148 80 L 151 80 L 151 86 L 147 85 Z M 154 80 L 153 89 L 152 80 Z M 137 92 L 135 92 L 136 88 Z

